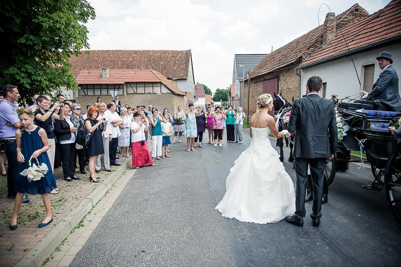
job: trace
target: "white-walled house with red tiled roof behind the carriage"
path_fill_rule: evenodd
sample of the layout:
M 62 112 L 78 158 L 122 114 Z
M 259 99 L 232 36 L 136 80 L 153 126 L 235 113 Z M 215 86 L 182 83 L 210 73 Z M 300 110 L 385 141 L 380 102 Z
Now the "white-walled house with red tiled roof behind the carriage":
M 361 87 L 369 92 L 381 72 L 376 57 L 381 51 L 392 54 L 392 66 L 401 74 L 401 1 L 394 0 L 385 8 L 342 29 L 327 44 L 316 49 L 297 69 L 301 70 L 301 94 L 309 77 L 318 75 L 323 80 L 321 96 L 338 98 L 353 95 Z M 333 22 L 334 23 L 334 22 Z M 344 38 L 347 45 L 344 42 Z M 351 61 L 352 55 L 354 65 Z M 401 82 L 399 82 L 401 89 Z

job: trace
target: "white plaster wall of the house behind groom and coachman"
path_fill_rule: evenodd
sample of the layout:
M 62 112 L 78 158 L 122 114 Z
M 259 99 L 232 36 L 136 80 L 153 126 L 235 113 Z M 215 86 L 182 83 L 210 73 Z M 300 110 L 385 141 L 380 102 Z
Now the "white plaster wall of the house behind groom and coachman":
M 376 57 L 378 57 L 380 55 L 380 52 L 382 51 L 391 53 L 391 58 L 394 61 L 392 66 L 396 70 L 398 77 L 400 77 L 401 46 L 399 44 L 371 50 L 357 55 L 352 55 L 362 88 L 364 76 L 363 66 L 375 64 L 374 80 L 376 80 L 377 76 L 381 72 L 378 67 L 378 61 L 376 60 Z M 306 82 L 308 78 L 314 75 L 320 76 L 323 80 L 323 83 L 327 83 L 326 98 L 331 98 L 331 95 L 333 94 L 338 95 L 338 98 L 344 98 L 346 96 L 358 93 L 360 90 L 358 78 L 352 65 L 352 61 L 349 57 L 330 61 L 325 64 L 317 65 L 308 69 L 303 69 L 301 70 L 301 72 L 301 95 L 304 95 L 306 93 Z M 401 89 L 401 80 L 399 81 L 399 88 Z

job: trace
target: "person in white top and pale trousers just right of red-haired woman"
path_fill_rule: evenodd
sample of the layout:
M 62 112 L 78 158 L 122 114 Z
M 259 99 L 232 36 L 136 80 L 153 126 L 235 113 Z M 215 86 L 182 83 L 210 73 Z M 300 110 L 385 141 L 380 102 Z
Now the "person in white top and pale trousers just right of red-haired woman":
M 105 123 L 107 122 L 107 124 L 108 124 L 110 119 L 109 119 L 109 115 L 107 113 L 106 104 L 103 102 L 100 102 L 99 104 L 97 104 L 96 107 L 100 111 L 98 120 L 103 119 L 105 121 Z M 102 140 L 103 140 L 104 154 L 99 155 L 99 157 L 97 158 L 95 172 L 100 172 L 100 168 L 102 166 L 102 163 L 100 161 L 100 156 L 103 157 L 105 171 L 111 171 L 111 169 L 110 169 L 110 153 L 109 153 L 109 142 L 111 141 L 111 129 L 110 129 L 109 124 L 106 127 L 106 131 L 102 132 Z

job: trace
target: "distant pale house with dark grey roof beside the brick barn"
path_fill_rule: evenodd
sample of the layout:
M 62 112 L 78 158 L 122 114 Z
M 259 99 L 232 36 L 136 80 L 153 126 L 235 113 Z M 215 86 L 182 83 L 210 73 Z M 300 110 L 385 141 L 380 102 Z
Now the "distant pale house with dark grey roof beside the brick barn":
M 267 54 L 235 54 L 234 56 L 234 69 L 233 69 L 233 84 L 235 84 L 235 95 L 238 95 L 242 100 L 244 92 L 242 90 L 242 83 L 240 80 L 244 79 L 245 74 L 252 70 Z M 233 105 L 234 106 L 234 105 Z

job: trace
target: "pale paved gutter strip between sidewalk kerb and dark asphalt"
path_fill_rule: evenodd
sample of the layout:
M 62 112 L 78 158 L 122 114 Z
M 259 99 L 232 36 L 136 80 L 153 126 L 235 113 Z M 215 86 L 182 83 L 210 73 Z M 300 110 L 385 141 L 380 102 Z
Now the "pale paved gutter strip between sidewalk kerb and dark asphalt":
M 107 191 L 106 195 L 84 217 L 82 223 L 78 226 L 79 228 L 74 229 L 50 254 L 45 262 L 46 267 L 69 266 L 71 264 L 135 172 L 136 169 L 127 169 L 118 178 L 118 181 Z

